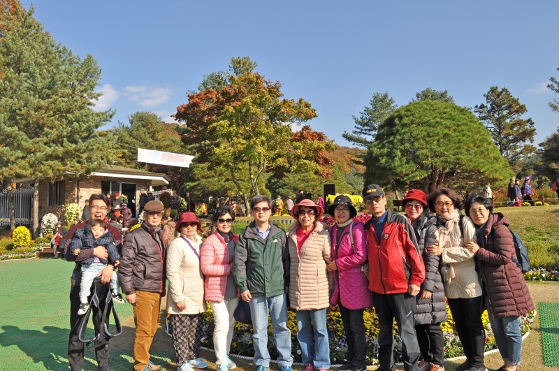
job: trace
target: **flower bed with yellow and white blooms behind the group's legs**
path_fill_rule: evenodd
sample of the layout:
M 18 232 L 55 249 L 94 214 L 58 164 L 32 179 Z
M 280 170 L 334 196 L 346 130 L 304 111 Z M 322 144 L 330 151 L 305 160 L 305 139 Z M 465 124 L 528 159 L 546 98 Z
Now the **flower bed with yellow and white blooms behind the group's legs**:
M 449 307 L 447 306 L 447 313 L 449 314 L 449 321 L 442 323 L 442 330 L 444 334 L 444 357 L 452 358 L 456 356 L 463 356 L 462 344 L 456 335 L 456 328 L 452 319 Z M 328 323 L 328 336 L 330 337 L 330 358 L 331 363 L 343 364 L 345 363 L 345 356 L 347 355 L 347 344 L 344 335 L 344 326 L 337 307 L 328 308 L 327 323 Z M 291 354 L 295 362 L 301 361 L 301 351 L 297 341 L 297 321 L 294 310 L 287 312 L 288 323 L 287 327 L 291 330 Z M 370 308 L 365 310 L 363 314 L 365 321 L 365 336 L 367 338 L 367 363 L 369 365 L 378 365 L 379 345 L 377 336 L 379 333 L 379 321 L 374 309 Z M 496 348 L 495 337 L 491 330 L 491 325 L 484 312 L 482 316 L 484 328 L 486 330 L 486 350 Z M 528 314 L 521 320 L 521 333 L 524 335 L 530 330 L 530 326 L 534 321 L 534 314 Z M 215 323 L 211 310 L 204 314 L 203 335 L 201 342 L 204 347 L 213 349 L 213 337 Z M 394 360 L 395 362 L 402 362 L 402 341 L 398 335 L 398 327 L 394 322 L 395 330 L 395 346 L 394 346 Z M 272 359 L 277 358 L 277 350 L 273 337 L 272 323 L 268 326 L 268 350 Z M 252 345 L 252 326 L 243 323 L 235 323 L 235 330 L 233 333 L 233 341 L 231 342 L 231 354 L 238 354 L 240 356 L 254 356 L 254 348 Z

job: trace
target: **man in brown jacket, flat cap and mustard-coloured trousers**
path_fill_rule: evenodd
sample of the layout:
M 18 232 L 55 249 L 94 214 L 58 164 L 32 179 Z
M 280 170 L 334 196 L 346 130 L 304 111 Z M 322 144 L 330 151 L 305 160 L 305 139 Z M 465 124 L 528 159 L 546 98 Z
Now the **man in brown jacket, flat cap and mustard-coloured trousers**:
M 149 201 L 144 207 L 144 221 L 126 235 L 122 247 L 119 280 L 126 300 L 133 305 L 136 337 L 134 370 L 161 370 L 150 361 L 150 347 L 157 325 L 161 296 L 165 296 L 165 235 L 159 224 L 163 204 Z

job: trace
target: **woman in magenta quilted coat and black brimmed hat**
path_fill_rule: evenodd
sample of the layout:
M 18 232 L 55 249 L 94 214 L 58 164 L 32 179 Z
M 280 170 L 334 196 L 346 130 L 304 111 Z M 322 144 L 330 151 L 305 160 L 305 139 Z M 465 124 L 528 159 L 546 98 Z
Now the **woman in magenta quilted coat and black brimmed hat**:
M 336 219 L 336 224 L 328 231 L 332 263 L 327 268 L 333 272 L 335 284 L 330 303 L 340 307 L 348 349 L 347 363 L 337 369 L 364 371 L 367 369 L 367 341 L 363 310 L 372 306 L 369 283 L 361 271 L 361 265 L 367 262 L 365 229 L 363 223 L 352 219 L 357 210 L 348 196 L 337 196 L 328 208 L 328 214 Z

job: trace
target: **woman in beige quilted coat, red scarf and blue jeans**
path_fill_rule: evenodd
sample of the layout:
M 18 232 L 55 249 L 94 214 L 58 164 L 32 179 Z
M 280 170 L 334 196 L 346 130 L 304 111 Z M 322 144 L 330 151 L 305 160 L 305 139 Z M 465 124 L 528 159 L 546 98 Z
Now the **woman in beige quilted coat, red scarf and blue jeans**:
M 326 328 L 330 240 L 326 224 L 318 219 L 323 209 L 311 200 L 293 206 L 295 223 L 289 228 L 289 303 L 296 310 L 297 340 L 305 371 L 330 368 L 330 344 Z

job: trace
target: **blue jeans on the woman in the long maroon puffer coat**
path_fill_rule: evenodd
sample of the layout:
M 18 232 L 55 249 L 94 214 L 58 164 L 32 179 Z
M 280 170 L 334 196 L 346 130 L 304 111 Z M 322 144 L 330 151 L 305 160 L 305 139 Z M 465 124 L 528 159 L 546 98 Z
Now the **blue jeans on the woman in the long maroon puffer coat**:
M 488 302 L 488 299 L 486 299 Z M 487 303 L 489 308 L 489 303 Z M 493 317 L 491 310 L 489 322 L 495 335 L 495 342 L 501 354 L 502 360 L 510 365 L 520 365 L 522 354 L 522 335 L 520 333 L 520 317 Z

